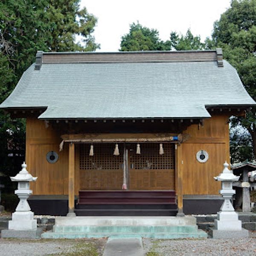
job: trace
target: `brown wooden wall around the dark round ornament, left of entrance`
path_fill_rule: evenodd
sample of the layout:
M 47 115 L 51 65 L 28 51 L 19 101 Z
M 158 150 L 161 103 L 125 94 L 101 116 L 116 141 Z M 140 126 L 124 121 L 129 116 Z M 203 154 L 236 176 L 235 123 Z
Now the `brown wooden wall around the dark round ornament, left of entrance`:
M 28 118 L 26 121 L 26 163 L 29 172 L 38 180 L 31 183 L 33 195 L 68 194 L 68 147 L 59 152 L 60 135 L 44 121 Z M 59 159 L 48 163 L 46 154 L 56 151 Z

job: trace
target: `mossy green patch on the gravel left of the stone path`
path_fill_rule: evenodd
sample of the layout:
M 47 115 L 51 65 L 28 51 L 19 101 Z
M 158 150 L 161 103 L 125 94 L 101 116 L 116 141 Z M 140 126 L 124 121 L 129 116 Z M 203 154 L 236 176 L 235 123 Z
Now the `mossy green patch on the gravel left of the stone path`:
M 60 253 L 48 254 L 48 256 L 99 256 L 96 245 L 91 242 L 79 242 L 71 248 L 65 248 Z

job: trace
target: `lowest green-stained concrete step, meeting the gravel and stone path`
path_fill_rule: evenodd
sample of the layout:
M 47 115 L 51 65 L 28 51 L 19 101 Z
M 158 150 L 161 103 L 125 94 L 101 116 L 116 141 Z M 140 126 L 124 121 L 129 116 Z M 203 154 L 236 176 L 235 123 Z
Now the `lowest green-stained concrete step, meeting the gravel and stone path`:
M 79 238 L 143 238 L 154 239 L 179 239 L 179 238 L 207 238 L 207 233 L 198 230 L 196 233 L 55 233 L 46 232 L 42 234 L 45 239 L 79 239 Z

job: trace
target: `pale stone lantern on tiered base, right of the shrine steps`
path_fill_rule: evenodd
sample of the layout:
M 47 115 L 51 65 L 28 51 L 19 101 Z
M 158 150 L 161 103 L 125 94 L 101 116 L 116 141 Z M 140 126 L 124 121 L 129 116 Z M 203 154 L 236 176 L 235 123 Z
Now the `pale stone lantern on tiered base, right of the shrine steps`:
M 233 174 L 228 169 L 229 164 L 224 163 L 223 172 L 214 177 L 215 180 L 221 181 L 220 194 L 224 198 L 221 210 L 217 213 L 215 228 L 212 229 L 212 238 L 242 238 L 248 237 L 248 230 L 242 229 L 242 223 L 238 219 L 233 205 L 230 202 L 232 196 L 236 193 L 233 190 L 233 182 L 239 180 L 239 176 Z

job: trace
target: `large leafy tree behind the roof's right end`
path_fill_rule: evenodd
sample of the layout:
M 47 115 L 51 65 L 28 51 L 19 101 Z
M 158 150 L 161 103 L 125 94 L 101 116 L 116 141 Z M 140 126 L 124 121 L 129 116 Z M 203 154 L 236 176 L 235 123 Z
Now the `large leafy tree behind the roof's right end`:
M 212 41 L 223 49 L 224 58 L 236 68 L 247 92 L 256 100 L 256 0 L 233 0 L 214 23 Z M 249 131 L 256 157 L 256 108 L 246 118 L 233 119 L 233 125 Z

